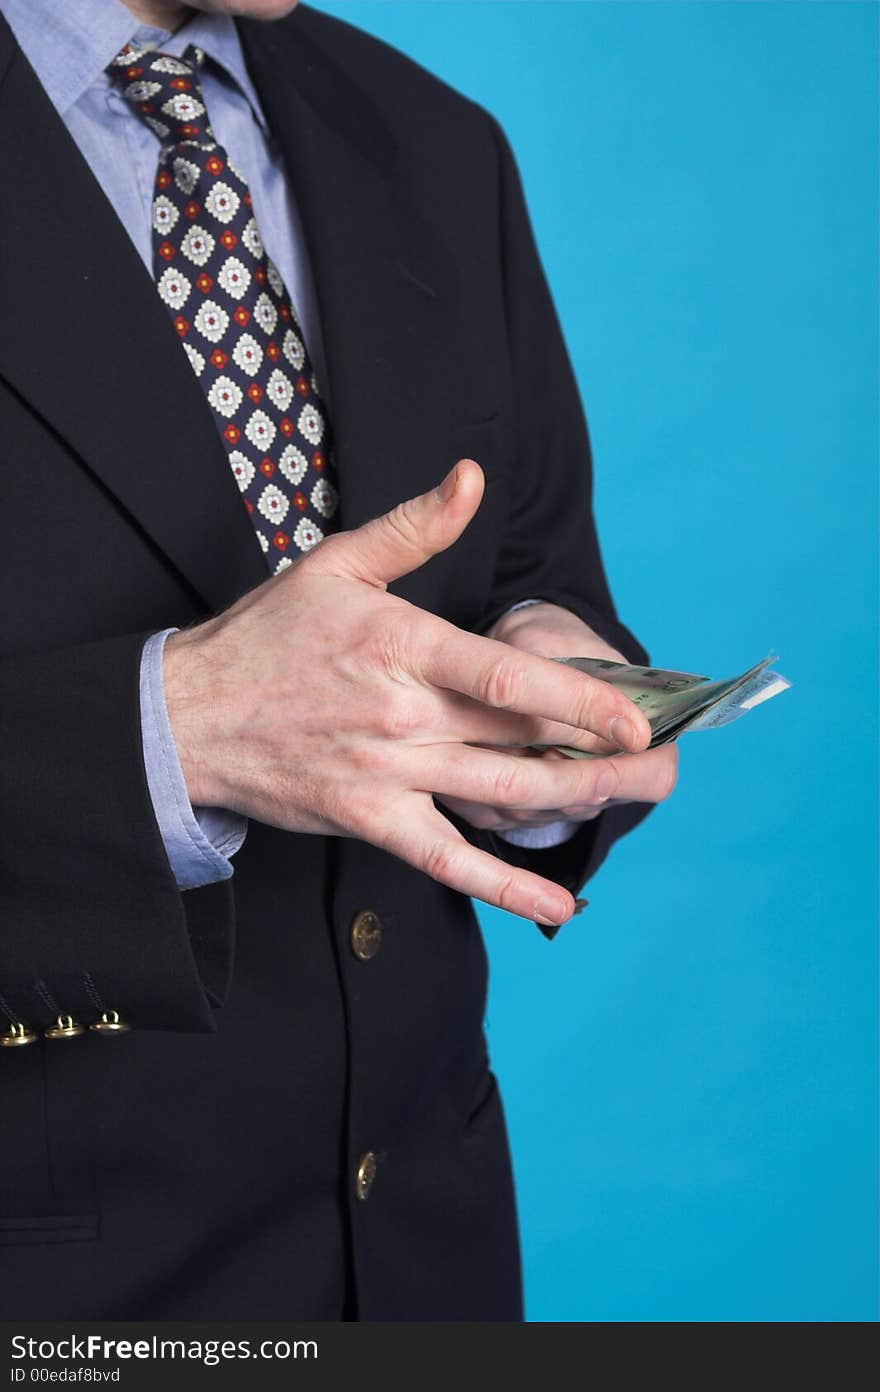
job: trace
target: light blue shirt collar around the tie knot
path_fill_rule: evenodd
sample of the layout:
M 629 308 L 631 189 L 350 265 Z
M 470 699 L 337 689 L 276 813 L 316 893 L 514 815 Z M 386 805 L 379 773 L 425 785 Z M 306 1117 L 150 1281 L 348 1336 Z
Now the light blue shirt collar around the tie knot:
M 168 35 L 138 25 L 121 0 L 0 0 L 25 57 L 58 116 L 65 116 L 93 84 L 106 84 L 104 68 L 127 43 L 163 49 L 175 57 L 194 43 L 203 49 L 248 99 L 266 128 L 256 90 L 245 67 L 234 19 L 195 11 Z

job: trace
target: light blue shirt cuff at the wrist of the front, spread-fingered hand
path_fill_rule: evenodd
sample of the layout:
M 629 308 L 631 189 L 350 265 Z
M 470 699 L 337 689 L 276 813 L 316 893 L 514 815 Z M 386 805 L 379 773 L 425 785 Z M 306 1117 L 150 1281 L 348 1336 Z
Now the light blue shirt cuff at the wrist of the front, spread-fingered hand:
M 162 654 L 166 628 L 141 654 L 141 735 L 143 766 L 171 873 L 180 889 L 198 889 L 233 874 L 230 857 L 242 845 L 248 820 L 224 807 L 194 807 L 187 793 L 164 697 Z

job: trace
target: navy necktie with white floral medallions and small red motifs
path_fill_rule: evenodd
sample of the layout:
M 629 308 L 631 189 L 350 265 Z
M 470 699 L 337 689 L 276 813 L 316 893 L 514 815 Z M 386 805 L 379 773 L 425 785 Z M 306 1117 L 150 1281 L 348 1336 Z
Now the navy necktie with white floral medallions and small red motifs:
M 173 58 L 127 45 L 107 72 L 162 142 L 152 209 L 157 290 L 277 572 L 336 530 L 330 426 L 246 180 L 210 128 L 203 61 L 192 46 Z

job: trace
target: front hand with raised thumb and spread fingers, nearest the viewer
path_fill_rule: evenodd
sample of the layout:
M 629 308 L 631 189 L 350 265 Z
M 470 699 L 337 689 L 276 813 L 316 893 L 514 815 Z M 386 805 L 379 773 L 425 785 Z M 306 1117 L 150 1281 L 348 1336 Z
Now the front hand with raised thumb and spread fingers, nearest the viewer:
M 472 846 L 432 795 L 599 806 L 620 784 L 617 761 L 524 759 L 504 746 L 571 742 L 574 727 L 636 752 L 650 729 L 607 682 L 387 593 L 461 536 L 482 494 L 480 468 L 461 459 L 434 491 L 327 537 L 171 636 L 168 715 L 195 805 L 359 837 L 462 894 L 558 924 L 572 896 Z

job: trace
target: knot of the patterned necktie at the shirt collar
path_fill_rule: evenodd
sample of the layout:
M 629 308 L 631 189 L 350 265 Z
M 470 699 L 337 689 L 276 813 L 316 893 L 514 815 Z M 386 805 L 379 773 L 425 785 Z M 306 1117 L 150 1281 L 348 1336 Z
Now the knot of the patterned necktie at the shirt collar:
M 202 49 L 192 45 L 182 58 L 131 43 L 107 67 L 110 79 L 163 145 L 213 143 L 199 68 Z

